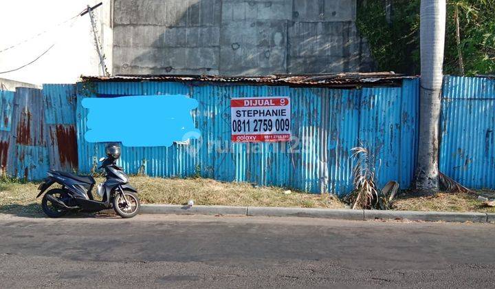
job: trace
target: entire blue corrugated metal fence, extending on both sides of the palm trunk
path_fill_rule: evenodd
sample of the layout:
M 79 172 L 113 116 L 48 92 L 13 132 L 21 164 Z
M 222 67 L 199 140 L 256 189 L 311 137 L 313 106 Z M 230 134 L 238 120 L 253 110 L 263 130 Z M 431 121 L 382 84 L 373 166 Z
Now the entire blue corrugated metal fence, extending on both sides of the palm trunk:
M 129 173 L 200 173 L 217 180 L 347 193 L 353 167 L 350 151 L 361 141 L 380 160 L 380 186 L 397 180 L 405 189 L 412 181 L 418 79 L 404 79 L 399 87 L 362 89 L 97 82 L 0 91 L 0 169 L 28 180 L 43 178 L 49 167 L 89 172 L 103 156 L 104 144 L 84 140 L 87 111 L 80 101 L 154 94 L 197 99 L 192 117 L 202 135 L 172 147 L 124 147 L 121 164 Z M 292 142 L 230 142 L 230 99 L 256 96 L 291 98 Z M 495 188 L 495 80 L 445 76 L 440 125 L 441 171 L 465 186 Z

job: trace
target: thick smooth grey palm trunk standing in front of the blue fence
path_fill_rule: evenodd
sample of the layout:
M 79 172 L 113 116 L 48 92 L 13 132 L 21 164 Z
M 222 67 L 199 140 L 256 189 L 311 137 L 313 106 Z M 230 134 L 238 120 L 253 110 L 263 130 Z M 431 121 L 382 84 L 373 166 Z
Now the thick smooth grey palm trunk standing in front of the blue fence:
M 439 190 L 439 117 L 445 6 L 445 0 L 421 0 L 421 89 L 415 187 L 422 192 Z

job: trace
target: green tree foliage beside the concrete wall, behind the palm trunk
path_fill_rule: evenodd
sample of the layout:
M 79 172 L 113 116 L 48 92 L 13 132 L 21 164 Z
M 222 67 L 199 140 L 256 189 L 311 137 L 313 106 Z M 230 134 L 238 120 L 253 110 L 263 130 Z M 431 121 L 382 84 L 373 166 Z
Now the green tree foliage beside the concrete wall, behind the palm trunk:
M 358 0 L 357 25 L 371 47 L 377 69 L 419 74 L 420 0 L 392 0 L 391 24 L 385 0 Z M 456 42 L 455 8 L 460 43 Z M 495 74 L 495 0 L 448 0 L 445 31 L 445 74 Z

